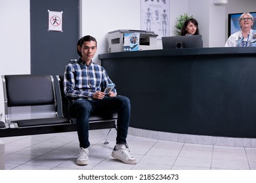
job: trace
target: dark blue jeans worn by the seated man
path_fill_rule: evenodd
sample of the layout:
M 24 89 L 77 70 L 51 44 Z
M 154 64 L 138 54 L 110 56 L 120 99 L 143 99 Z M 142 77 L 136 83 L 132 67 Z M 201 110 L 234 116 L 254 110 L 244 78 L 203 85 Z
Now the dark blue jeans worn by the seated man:
M 88 148 L 89 118 L 91 114 L 112 114 L 117 112 L 116 144 L 126 144 L 131 116 L 130 100 L 124 96 L 108 97 L 102 100 L 77 99 L 70 106 L 70 114 L 76 118 L 79 146 Z

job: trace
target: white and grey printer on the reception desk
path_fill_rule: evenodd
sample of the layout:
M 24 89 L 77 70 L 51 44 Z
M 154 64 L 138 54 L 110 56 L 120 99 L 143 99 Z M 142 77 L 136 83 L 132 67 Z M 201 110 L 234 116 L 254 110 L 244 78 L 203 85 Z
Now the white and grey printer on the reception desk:
M 108 53 L 155 50 L 157 34 L 154 31 L 119 29 L 108 33 Z

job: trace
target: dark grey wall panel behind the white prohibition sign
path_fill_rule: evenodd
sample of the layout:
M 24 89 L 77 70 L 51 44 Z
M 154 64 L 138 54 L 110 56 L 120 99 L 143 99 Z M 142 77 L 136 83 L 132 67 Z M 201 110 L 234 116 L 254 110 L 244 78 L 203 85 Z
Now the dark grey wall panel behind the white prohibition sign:
M 78 0 L 30 1 L 31 73 L 60 75 L 70 59 L 77 58 Z M 62 14 L 62 30 L 48 31 L 49 12 Z

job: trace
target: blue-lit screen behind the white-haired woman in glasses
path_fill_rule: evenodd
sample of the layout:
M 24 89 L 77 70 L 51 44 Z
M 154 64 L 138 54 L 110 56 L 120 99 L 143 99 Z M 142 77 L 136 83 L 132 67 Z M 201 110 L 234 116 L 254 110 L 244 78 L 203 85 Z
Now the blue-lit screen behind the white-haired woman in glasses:
M 239 18 L 242 14 L 243 12 L 228 14 L 228 37 L 230 37 L 230 35 L 232 35 L 233 33 L 240 31 Z M 255 30 L 256 12 L 250 12 L 250 14 L 253 16 L 253 27 L 251 27 L 251 29 Z

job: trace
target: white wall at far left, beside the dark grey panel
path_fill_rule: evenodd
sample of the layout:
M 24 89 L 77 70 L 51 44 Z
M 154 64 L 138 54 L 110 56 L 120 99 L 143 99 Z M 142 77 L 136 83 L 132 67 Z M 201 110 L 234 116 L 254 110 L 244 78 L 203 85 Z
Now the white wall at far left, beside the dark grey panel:
M 30 0 L 0 0 L 0 26 L 0 75 L 30 74 Z M 1 83 L 0 114 L 4 113 Z

